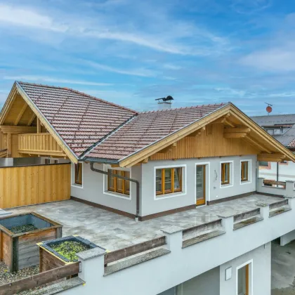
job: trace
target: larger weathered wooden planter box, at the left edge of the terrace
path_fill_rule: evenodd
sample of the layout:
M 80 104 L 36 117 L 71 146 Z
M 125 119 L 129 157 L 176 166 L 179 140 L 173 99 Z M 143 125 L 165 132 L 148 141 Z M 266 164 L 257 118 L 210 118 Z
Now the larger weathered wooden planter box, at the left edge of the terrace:
M 14 233 L 18 227 L 32 230 Z M 62 227 L 50 219 L 31 212 L 0 218 L 0 258 L 11 272 L 39 263 L 38 242 L 62 236 Z

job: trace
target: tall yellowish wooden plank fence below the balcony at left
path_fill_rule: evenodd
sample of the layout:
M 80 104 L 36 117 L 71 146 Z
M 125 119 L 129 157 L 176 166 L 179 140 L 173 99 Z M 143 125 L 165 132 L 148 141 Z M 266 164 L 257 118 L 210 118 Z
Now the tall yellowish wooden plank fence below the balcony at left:
M 0 208 L 70 199 L 70 164 L 0 168 Z

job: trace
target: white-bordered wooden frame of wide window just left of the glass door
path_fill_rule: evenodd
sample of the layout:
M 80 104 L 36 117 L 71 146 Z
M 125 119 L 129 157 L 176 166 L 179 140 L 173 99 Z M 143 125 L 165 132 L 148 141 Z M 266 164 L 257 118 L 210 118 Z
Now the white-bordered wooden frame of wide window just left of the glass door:
M 164 169 L 173 169 L 173 173 L 171 173 L 171 188 L 172 188 L 172 183 L 174 183 L 174 169 L 179 168 L 181 169 L 181 178 L 179 179 L 179 182 L 181 184 L 181 189 L 175 190 L 173 188 L 172 192 L 166 192 L 166 193 L 157 193 L 157 170 L 162 169 L 162 179 L 163 179 L 163 171 Z M 169 197 L 177 197 L 181 195 L 186 195 L 186 165 L 185 164 L 179 164 L 179 165 L 171 165 L 171 166 L 155 166 L 154 167 L 154 199 L 159 200 L 159 199 L 166 199 Z M 173 174 L 173 175 L 172 175 Z M 164 188 L 164 183 L 162 181 L 162 192 Z

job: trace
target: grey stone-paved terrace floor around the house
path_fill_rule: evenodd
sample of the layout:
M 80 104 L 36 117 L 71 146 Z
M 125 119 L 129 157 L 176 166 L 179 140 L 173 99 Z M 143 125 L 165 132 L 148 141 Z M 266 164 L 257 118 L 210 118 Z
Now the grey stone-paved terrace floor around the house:
M 9 211 L 13 214 L 37 212 L 63 224 L 64 237 L 80 235 L 100 247 L 114 251 L 162 236 L 164 233 L 161 229 L 171 225 L 191 228 L 219 219 L 218 214 L 227 212 L 236 215 L 257 209 L 257 202 L 272 204 L 279 201 L 282 198 L 251 195 L 142 222 L 73 200 L 24 206 Z

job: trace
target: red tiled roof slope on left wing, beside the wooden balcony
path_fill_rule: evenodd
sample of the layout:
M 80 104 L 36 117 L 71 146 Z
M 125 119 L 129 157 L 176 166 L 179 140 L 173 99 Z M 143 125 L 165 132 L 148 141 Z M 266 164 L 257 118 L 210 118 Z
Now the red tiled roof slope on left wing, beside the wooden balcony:
M 72 89 L 24 82 L 18 85 L 78 157 L 137 114 Z

